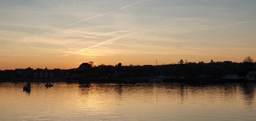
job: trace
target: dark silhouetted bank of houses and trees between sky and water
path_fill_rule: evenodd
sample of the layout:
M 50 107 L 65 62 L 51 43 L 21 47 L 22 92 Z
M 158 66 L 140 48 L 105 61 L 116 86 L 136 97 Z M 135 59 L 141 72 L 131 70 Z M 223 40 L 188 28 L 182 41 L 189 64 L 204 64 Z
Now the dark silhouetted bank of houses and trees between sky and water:
M 248 58 L 249 57 L 249 58 Z M 175 81 L 221 81 L 221 80 L 250 80 L 255 81 L 256 63 L 247 56 L 242 63 L 231 61 L 210 63 L 191 63 L 181 59 L 178 64 L 116 66 L 99 65 L 93 62 L 82 63 L 75 69 L 15 69 L 0 70 L 0 80 L 6 81 L 84 81 L 84 82 L 116 82 L 134 81 L 147 82 L 150 77 L 162 75 L 164 82 Z M 0 82 L 1 82 L 0 81 Z

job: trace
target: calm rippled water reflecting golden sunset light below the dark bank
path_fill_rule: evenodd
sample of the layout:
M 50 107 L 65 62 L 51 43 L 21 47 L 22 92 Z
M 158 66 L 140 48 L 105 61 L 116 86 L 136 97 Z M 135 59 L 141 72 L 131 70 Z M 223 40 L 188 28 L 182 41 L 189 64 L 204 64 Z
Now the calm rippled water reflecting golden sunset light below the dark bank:
M 0 120 L 256 120 L 255 83 L 0 83 Z

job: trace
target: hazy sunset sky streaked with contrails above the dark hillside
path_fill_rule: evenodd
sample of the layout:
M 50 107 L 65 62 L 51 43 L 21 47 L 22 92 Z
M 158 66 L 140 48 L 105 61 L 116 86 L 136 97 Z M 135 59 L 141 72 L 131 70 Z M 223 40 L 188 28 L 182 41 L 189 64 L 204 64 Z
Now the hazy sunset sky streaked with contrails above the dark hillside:
M 0 70 L 256 59 L 255 0 L 0 0 Z

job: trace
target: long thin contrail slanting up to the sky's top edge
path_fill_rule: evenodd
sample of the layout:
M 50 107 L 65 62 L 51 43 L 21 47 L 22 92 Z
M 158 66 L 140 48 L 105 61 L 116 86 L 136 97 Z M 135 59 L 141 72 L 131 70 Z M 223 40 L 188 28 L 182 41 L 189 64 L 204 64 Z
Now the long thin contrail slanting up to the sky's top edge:
M 151 0 L 147 0 L 147 1 L 151 1 Z M 107 12 L 107 13 L 104 13 L 104 14 L 99 14 L 99 15 L 96 15 L 96 16 L 93 16 L 93 17 L 90 17 L 90 18 L 87 18 L 87 19 L 83 19 L 83 20 L 81 20 L 81 21 L 78 21 L 78 22 L 75 22 L 75 23 L 66 25 L 66 26 L 64 26 L 64 27 L 61 27 L 61 28 L 58 28 L 58 29 L 55 29 L 55 30 L 52 30 L 52 31 L 48 31 L 48 32 L 43 33 L 43 34 L 41 34 L 41 35 L 45 35 L 45 34 L 48 34 L 48 33 L 50 33 L 50 32 L 57 31 L 57 30 L 60 30 L 60 29 L 62 29 L 62 28 L 66 28 L 66 27 L 71 26 L 71 25 L 73 25 L 73 24 L 77 24 L 77 23 L 80 23 L 80 22 L 83 22 L 83 21 L 86 21 L 86 20 L 89 20 L 89 19 L 92 19 L 92 18 L 104 16 L 104 15 L 107 15 L 107 14 L 110 14 L 110 13 L 113 13 L 113 12 L 116 12 L 116 11 L 119 11 L 119 10 L 122 10 L 122 9 L 124 9 L 124 8 L 133 6 L 133 5 L 135 5 L 135 4 L 138 4 L 138 3 L 141 3 L 141 2 L 147 2 L 147 1 L 139 1 L 139 2 L 136 2 L 136 3 L 130 4 L 130 5 L 124 6 L 124 7 L 122 7 L 122 8 L 116 9 L 116 10 L 114 10 L 114 11 L 110 11 L 110 12 Z

